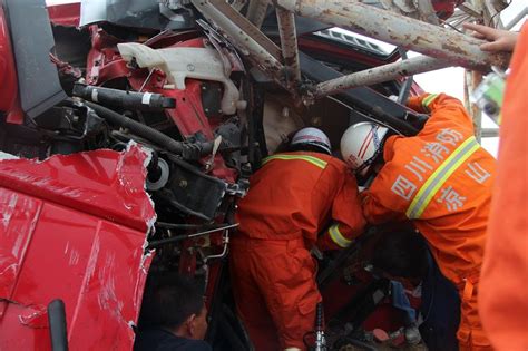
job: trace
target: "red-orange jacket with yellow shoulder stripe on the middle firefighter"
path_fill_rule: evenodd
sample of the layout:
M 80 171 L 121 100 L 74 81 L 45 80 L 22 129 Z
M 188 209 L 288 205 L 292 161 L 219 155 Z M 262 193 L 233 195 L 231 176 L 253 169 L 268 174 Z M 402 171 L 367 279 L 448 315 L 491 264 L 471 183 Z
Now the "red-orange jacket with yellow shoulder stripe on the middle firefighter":
M 242 236 L 303 237 L 307 248 L 346 247 L 365 225 L 354 176 L 340 159 L 320 153 L 284 153 L 264 159 L 238 203 Z

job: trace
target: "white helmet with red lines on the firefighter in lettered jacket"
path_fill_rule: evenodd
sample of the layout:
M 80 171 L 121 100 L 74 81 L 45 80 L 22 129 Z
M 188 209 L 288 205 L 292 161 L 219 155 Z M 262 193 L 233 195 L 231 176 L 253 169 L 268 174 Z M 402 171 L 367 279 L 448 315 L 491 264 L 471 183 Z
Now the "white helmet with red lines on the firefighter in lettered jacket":
M 382 152 L 388 129 L 374 123 L 361 121 L 350 126 L 341 137 L 341 155 L 356 174 L 365 175 L 369 166 Z

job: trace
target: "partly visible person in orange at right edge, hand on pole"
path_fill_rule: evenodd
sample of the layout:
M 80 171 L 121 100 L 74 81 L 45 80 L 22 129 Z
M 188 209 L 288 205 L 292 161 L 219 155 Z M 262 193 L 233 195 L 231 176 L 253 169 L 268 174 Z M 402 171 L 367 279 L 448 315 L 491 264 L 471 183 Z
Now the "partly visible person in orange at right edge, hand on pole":
M 511 51 L 500 126 L 499 160 L 488 227 L 479 311 L 497 350 L 528 350 L 528 22 L 516 32 L 467 23 L 491 42 L 485 51 Z M 518 37 L 517 37 L 518 36 Z M 517 41 L 517 45 L 516 45 Z

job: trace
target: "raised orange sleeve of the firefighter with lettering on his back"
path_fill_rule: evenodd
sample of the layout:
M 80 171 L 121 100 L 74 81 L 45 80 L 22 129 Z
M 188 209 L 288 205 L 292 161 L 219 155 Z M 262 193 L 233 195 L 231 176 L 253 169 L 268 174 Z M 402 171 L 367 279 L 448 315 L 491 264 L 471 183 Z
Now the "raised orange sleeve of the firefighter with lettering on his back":
M 423 94 L 409 98 L 407 106 L 418 113 L 431 114 L 430 120 L 461 120 L 472 125 L 463 104 L 446 94 Z

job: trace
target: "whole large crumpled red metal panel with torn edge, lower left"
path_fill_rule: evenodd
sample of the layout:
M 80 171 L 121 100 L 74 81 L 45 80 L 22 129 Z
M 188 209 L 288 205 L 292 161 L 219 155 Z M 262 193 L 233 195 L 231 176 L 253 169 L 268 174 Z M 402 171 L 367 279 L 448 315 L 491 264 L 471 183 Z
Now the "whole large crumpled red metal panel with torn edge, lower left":
M 55 299 L 66 304 L 70 350 L 131 349 L 151 261 L 149 157 L 130 145 L 0 160 L 0 350 L 50 350 Z

